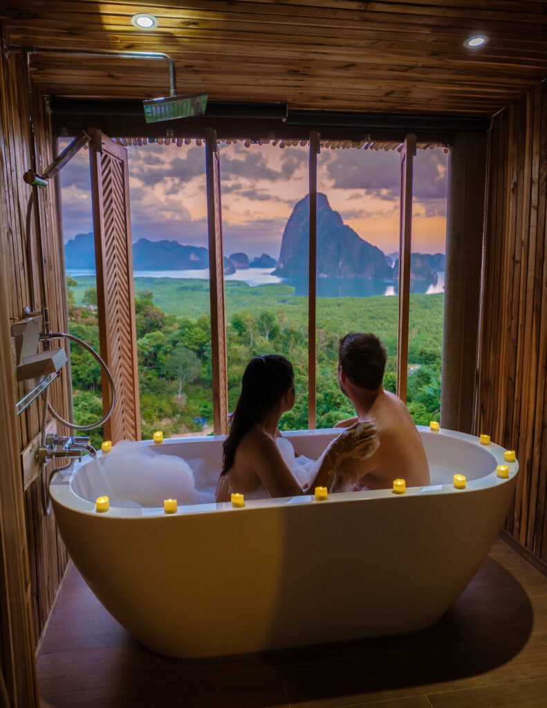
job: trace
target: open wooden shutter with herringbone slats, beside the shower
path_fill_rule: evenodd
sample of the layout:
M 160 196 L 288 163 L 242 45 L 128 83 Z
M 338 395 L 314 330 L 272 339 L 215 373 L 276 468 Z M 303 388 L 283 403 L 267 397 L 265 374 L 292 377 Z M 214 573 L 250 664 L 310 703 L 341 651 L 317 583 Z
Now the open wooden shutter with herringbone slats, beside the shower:
M 116 392 L 104 434 L 112 442 L 140 440 L 128 155 L 100 130 L 91 128 L 89 135 L 99 343 Z M 102 388 L 106 412 L 111 397 L 104 372 Z

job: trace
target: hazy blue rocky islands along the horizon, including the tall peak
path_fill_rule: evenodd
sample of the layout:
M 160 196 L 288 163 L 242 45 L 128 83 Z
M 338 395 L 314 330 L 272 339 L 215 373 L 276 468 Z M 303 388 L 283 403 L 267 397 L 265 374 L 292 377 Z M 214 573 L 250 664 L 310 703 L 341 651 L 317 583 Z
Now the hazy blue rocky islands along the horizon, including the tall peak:
M 280 278 L 308 277 L 309 195 L 300 200 L 288 218 L 279 258 L 267 253 L 249 260 L 247 253 L 224 257 L 225 275 L 246 268 L 271 268 Z M 317 194 L 317 277 L 361 278 L 396 281 L 399 278 L 398 253 L 386 256 L 378 246 L 361 239 L 354 229 L 329 205 L 327 196 Z M 66 268 L 95 268 L 94 234 L 77 234 L 64 244 Z M 209 267 L 209 251 L 203 246 L 180 244 L 179 241 L 139 239 L 132 244 L 133 270 L 200 270 Z M 412 253 L 412 280 L 436 283 L 437 272 L 443 271 L 443 253 Z

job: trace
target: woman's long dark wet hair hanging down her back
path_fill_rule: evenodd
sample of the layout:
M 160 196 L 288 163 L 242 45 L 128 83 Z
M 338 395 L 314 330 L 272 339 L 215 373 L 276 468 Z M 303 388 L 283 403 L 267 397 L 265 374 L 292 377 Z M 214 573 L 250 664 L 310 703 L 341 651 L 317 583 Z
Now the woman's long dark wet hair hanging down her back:
M 230 433 L 224 441 L 222 474 L 234 464 L 237 445 L 281 398 L 294 388 L 290 361 L 278 354 L 258 356 L 247 364 L 241 382 L 241 394 L 232 415 Z

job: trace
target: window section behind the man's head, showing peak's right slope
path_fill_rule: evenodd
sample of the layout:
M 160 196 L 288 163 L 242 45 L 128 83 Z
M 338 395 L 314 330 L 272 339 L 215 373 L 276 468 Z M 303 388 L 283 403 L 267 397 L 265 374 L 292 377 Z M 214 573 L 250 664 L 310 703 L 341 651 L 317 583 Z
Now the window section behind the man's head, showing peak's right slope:
M 317 167 L 317 427 L 354 416 L 337 382 L 339 338 L 373 332 L 395 392 L 399 173 L 396 151 L 325 145 Z

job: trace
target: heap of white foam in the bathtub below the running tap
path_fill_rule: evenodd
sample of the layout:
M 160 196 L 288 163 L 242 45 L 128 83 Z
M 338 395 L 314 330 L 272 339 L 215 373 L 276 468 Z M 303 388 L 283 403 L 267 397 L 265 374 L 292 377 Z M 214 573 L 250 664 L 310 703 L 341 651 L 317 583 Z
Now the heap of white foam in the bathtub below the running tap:
M 215 501 L 220 470 L 208 469 L 207 460 L 184 460 L 159 455 L 138 442 L 118 442 L 101 463 L 111 484 L 111 506 L 125 508 L 163 507 L 164 499 L 180 505 Z M 89 464 L 96 467 L 96 463 Z M 91 470 L 90 470 L 91 472 Z M 98 472 L 98 470 L 94 470 Z M 90 498 L 101 491 L 101 475 L 90 475 Z

